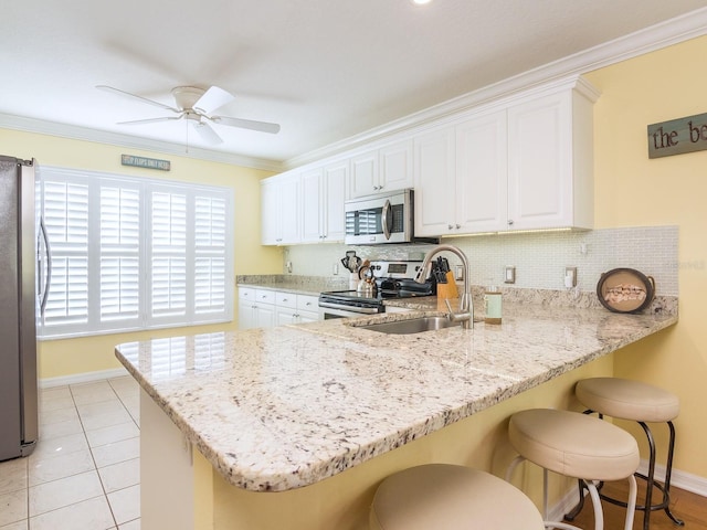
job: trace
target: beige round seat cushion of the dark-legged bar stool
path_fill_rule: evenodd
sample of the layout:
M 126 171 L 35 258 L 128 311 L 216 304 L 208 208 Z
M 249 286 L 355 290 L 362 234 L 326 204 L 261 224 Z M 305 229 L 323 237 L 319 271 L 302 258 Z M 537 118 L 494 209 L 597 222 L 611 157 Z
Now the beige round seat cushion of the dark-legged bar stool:
M 677 395 L 629 379 L 584 379 L 577 383 L 574 393 L 588 409 L 621 420 L 663 423 L 680 411 Z

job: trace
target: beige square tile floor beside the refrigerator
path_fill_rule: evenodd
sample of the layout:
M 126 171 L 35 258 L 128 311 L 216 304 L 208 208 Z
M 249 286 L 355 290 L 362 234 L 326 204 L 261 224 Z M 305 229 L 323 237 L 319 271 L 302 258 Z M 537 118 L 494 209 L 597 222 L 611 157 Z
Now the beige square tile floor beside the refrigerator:
M 0 463 L 0 530 L 139 530 L 139 388 L 130 377 L 40 391 L 40 442 Z

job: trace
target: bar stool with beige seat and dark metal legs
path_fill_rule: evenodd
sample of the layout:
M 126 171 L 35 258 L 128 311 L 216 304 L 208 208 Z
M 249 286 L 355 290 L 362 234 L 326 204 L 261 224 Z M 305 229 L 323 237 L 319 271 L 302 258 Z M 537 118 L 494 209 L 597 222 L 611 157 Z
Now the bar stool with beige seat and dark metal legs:
M 671 512 L 671 474 L 673 470 L 673 452 L 675 449 L 675 426 L 673 420 L 679 413 L 679 399 L 663 389 L 640 381 L 632 381 L 619 378 L 592 378 L 577 383 L 574 389 L 577 399 L 588 409 L 588 413 L 597 412 L 601 416 L 611 416 L 621 420 L 637 422 L 648 439 L 648 471 L 647 475 L 636 474 L 637 477 L 646 480 L 645 505 L 636 506 L 636 510 L 643 511 L 643 528 L 648 529 L 651 511 L 665 510 L 665 513 L 676 524 L 684 522 Z M 655 480 L 655 441 L 653 433 L 646 423 L 666 423 L 671 438 L 667 449 L 667 462 L 665 466 L 665 481 L 659 484 Z M 653 504 L 653 488 L 657 488 L 663 494 L 661 502 Z M 601 496 L 604 500 L 619 506 L 626 506 L 625 502 Z M 581 507 L 578 507 L 581 509 Z M 572 513 L 577 513 L 574 510 Z

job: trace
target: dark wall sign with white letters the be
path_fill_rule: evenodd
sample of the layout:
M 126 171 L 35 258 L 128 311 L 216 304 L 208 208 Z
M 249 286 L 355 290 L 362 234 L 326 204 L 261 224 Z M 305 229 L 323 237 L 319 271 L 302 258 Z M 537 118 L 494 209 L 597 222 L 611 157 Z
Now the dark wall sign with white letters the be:
M 707 149 L 707 114 L 648 125 L 648 158 Z

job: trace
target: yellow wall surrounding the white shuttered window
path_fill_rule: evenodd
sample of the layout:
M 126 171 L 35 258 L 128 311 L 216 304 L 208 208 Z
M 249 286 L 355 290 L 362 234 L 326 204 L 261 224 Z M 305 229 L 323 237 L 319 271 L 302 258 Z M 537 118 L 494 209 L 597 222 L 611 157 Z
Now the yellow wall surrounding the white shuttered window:
M 282 273 L 281 251 L 264 247 L 260 243 L 260 179 L 272 174 L 267 171 L 1 128 L 0 151 L 3 155 L 19 158 L 35 158 L 40 166 L 87 169 L 233 188 L 235 198 L 235 274 Z M 120 165 L 122 153 L 170 160 L 171 170 L 167 172 L 124 167 Z M 236 310 L 238 304 L 234 300 L 234 315 Z M 234 325 L 201 326 L 189 328 L 189 331 L 209 332 L 224 327 L 234 327 Z M 120 364 L 114 354 L 115 344 L 183 332 L 184 330 L 172 328 L 140 333 L 43 341 L 40 353 L 40 379 L 119 368 Z

